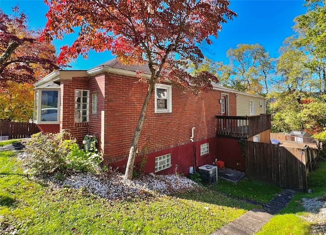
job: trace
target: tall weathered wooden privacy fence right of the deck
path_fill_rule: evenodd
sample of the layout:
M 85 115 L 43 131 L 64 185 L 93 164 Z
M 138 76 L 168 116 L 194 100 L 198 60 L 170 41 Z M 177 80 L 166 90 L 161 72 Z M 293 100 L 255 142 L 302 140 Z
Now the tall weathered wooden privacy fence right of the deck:
M 317 149 L 246 142 L 246 174 L 281 188 L 307 190 L 307 174 Z

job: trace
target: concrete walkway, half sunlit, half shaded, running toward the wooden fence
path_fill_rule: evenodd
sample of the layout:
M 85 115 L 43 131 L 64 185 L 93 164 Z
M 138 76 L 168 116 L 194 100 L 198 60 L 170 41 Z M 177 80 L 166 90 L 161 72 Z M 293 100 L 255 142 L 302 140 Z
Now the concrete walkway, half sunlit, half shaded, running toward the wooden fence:
M 224 225 L 211 235 L 252 235 L 258 232 L 274 215 L 278 214 L 295 195 L 293 190 L 283 190 L 281 194 L 264 205 L 264 212 L 253 209 L 234 221 Z

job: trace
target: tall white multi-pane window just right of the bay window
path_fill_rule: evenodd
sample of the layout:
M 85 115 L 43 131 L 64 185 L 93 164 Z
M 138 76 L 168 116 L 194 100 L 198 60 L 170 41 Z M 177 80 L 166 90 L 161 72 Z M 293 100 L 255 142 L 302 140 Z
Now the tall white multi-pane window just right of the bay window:
M 75 90 L 75 122 L 88 122 L 89 91 Z

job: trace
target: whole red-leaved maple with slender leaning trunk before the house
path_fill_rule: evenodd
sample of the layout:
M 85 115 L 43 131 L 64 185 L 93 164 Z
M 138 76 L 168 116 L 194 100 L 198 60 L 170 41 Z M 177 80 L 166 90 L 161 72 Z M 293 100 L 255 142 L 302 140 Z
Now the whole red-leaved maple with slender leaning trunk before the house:
M 138 125 L 131 142 L 125 178 L 131 179 L 137 144 L 149 99 L 156 83 L 171 81 L 196 94 L 217 78 L 208 72 L 189 74 L 186 65 L 203 59 L 200 45 L 211 44 L 221 23 L 236 14 L 228 0 L 48 0 L 43 38 L 62 39 L 79 31 L 71 46 L 63 46 L 59 63 L 66 64 L 89 50 L 111 50 L 125 64 L 148 63 L 150 78 Z M 141 75 L 140 75 L 141 76 Z

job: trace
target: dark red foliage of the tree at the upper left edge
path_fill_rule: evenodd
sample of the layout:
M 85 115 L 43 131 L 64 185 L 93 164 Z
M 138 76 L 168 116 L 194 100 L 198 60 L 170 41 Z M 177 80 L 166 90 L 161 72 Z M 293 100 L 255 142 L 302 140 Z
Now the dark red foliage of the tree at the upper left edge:
M 34 83 L 58 69 L 56 49 L 39 42 L 41 32 L 27 27 L 27 16 L 13 8 L 13 15 L 0 9 L 0 86 L 7 81 Z

